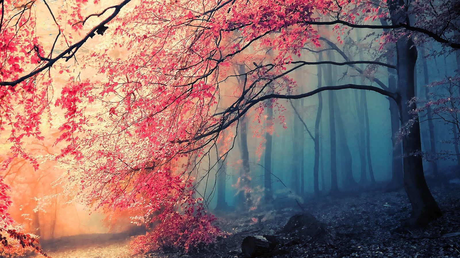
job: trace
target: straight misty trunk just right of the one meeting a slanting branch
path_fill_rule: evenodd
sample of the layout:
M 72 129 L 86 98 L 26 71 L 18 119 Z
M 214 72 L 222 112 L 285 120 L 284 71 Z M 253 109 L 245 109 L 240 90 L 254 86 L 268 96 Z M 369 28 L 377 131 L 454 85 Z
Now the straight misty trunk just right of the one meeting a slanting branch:
M 332 55 L 328 53 L 328 59 L 332 60 Z M 333 85 L 332 81 L 332 65 L 326 65 L 326 73 L 324 74 L 326 84 Z M 331 194 L 339 193 L 339 185 L 337 184 L 337 150 L 336 150 L 336 135 L 335 135 L 335 108 L 334 108 L 334 91 L 328 91 L 329 101 L 329 132 L 330 132 L 330 151 L 331 151 Z

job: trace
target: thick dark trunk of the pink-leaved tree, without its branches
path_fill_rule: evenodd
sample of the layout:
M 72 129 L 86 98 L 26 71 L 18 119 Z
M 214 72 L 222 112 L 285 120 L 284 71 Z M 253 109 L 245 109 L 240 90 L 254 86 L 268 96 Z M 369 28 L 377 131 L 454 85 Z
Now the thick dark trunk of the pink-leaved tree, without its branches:
M 408 22 L 407 15 L 400 9 L 401 6 L 404 6 L 403 0 L 390 2 L 391 21 L 393 24 Z M 420 227 L 440 217 L 441 210 L 431 195 L 428 185 L 426 185 L 422 157 L 414 155 L 414 153 L 421 150 L 420 125 L 418 118 L 414 118 L 410 113 L 412 109 L 416 108 L 415 104 L 408 105 L 408 103 L 415 96 L 414 68 L 417 61 L 417 50 L 410 38 L 398 39 L 396 50 L 398 87 L 401 94 L 399 105 L 402 111 L 401 120 L 403 126 L 411 119 L 415 119 L 410 133 L 403 137 L 404 189 L 412 204 L 411 217 L 405 225 Z

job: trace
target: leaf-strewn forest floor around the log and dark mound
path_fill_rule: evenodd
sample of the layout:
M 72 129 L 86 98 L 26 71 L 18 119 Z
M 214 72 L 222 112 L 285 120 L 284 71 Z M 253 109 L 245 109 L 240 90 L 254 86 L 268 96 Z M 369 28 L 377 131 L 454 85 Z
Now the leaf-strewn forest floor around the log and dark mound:
M 47 243 L 44 249 L 52 250 L 48 254 L 53 258 L 242 258 L 241 243 L 246 236 L 275 235 L 281 244 L 259 257 L 460 257 L 460 186 L 436 183 L 430 188 L 443 216 L 423 229 L 400 227 L 411 210 L 403 190 L 378 189 L 307 198 L 302 208 L 292 200 L 281 200 L 283 204 L 276 208 L 260 208 L 252 216 L 217 213 L 219 226 L 230 235 L 195 253 L 132 256 L 126 234 L 73 236 Z M 304 212 L 325 224 L 327 233 L 319 239 L 280 233 L 292 215 Z

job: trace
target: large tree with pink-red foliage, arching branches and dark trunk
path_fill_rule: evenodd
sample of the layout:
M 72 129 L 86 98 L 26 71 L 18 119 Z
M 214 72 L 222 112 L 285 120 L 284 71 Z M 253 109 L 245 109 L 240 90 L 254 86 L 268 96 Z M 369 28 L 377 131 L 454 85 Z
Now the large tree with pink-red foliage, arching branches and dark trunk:
M 425 225 L 441 214 L 426 185 L 421 157 L 414 156 L 421 144 L 418 120 L 410 113 L 414 104 L 408 106 L 414 97 L 417 56 L 413 35 L 458 49 L 457 38 L 451 36 L 456 21 L 449 20 L 456 17 L 458 3 L 433 6 L 415 1 L 407 6 L 400 0 L 386 5 L 355 0 L 178 0 L 165 4 L 124 0 L 102 6 L 99 1 L 75 0 L 66 1 L 69 9 L 63 12 L 53 11 L 46 1 L 13 5 L 2 0 L 1 4 L 0 129 L 10 134 L 14 155 L 38 165 L 23 146 L 23 138 L 41 139 L 40 123 L 54 109 L 49 103 L 63 109 L 57 141 L 68 145 L 57 158 L 78 169 L 69 175 L 68 187 L 78 190 L 87 203 L 137 209 L 147 215 L 161 209 L 158 218 L 163 220 L 163 234 L 184 233 L 185 227 L 178 224 L 200 222 L 196 231 L 179 234 L 184 238 L 176 243 L 186 250 L 196 242 L 209 243 L 219 231 L 211 225 L 213 218 L 203 209 L 202 198 L 192 198 L 192 179 L 185 169 L 190 165 L 188 157 L 210 157 L 219 134 L 230 130 L 249 110 L 262 113 L 266 100 L 358 89 L 396 101 L 402 123 L 411 126 L 410 134 L 402 140 L 404 186 L 413 208 L 407 225 Z M 35 34 L 38 8 L 52 17 L 52 40 Z M 433 21 L 433 13 L 442 18 Z M 412 14 L 417 14 L 413 25 L 408 18 Z M 391 25 L 374 25 L 372 21 L 379 18 L 391 20 Z M 296 84 L 289 75 L 306 65 L 391 66 L 364 60 L 293 61 L 293 55 L 302 57 L 305 45 L 321 45 L 313 25 L 333 26 L 332 33 L 340 43 L 348 28 L 374 30 L 381 36 L 382 46 L 394 42 L 398 90 L 329 84 L 293 94 Z M 241 35 L 240 42 L 233 40 L 236 32 Z M 103 40 L 98 42 L 98 37 Z M 91 54 L 77 58 L 76 53 L 90 41 L 95 46 Z M 269 46 L 276 49 L 273 62 L 252 61 L 265 55 Z M 64 62 L 72 59 L 73 64 Z M 235 73 L 231 69 L 234 64 L 245 69 Z M 50 99 L 58 74 L 66 76 L 66 83 L 55 86 L 61 93 Z M 235 90 L 233 96 L 220 95 L 223 88 L 237 88 L 234 78 L 242 79 L 238 84 L 241 90 Z M 224 108 L 217 105 L 223 99 L 230 101 Z M 276 101 L 274 106 L 282 108 Z M 284 122 L 282 116 L 278 119 Z M 200 235 L 203 230 L 214 235 Z M 158 240 L 158 234 L 143 241 Z

